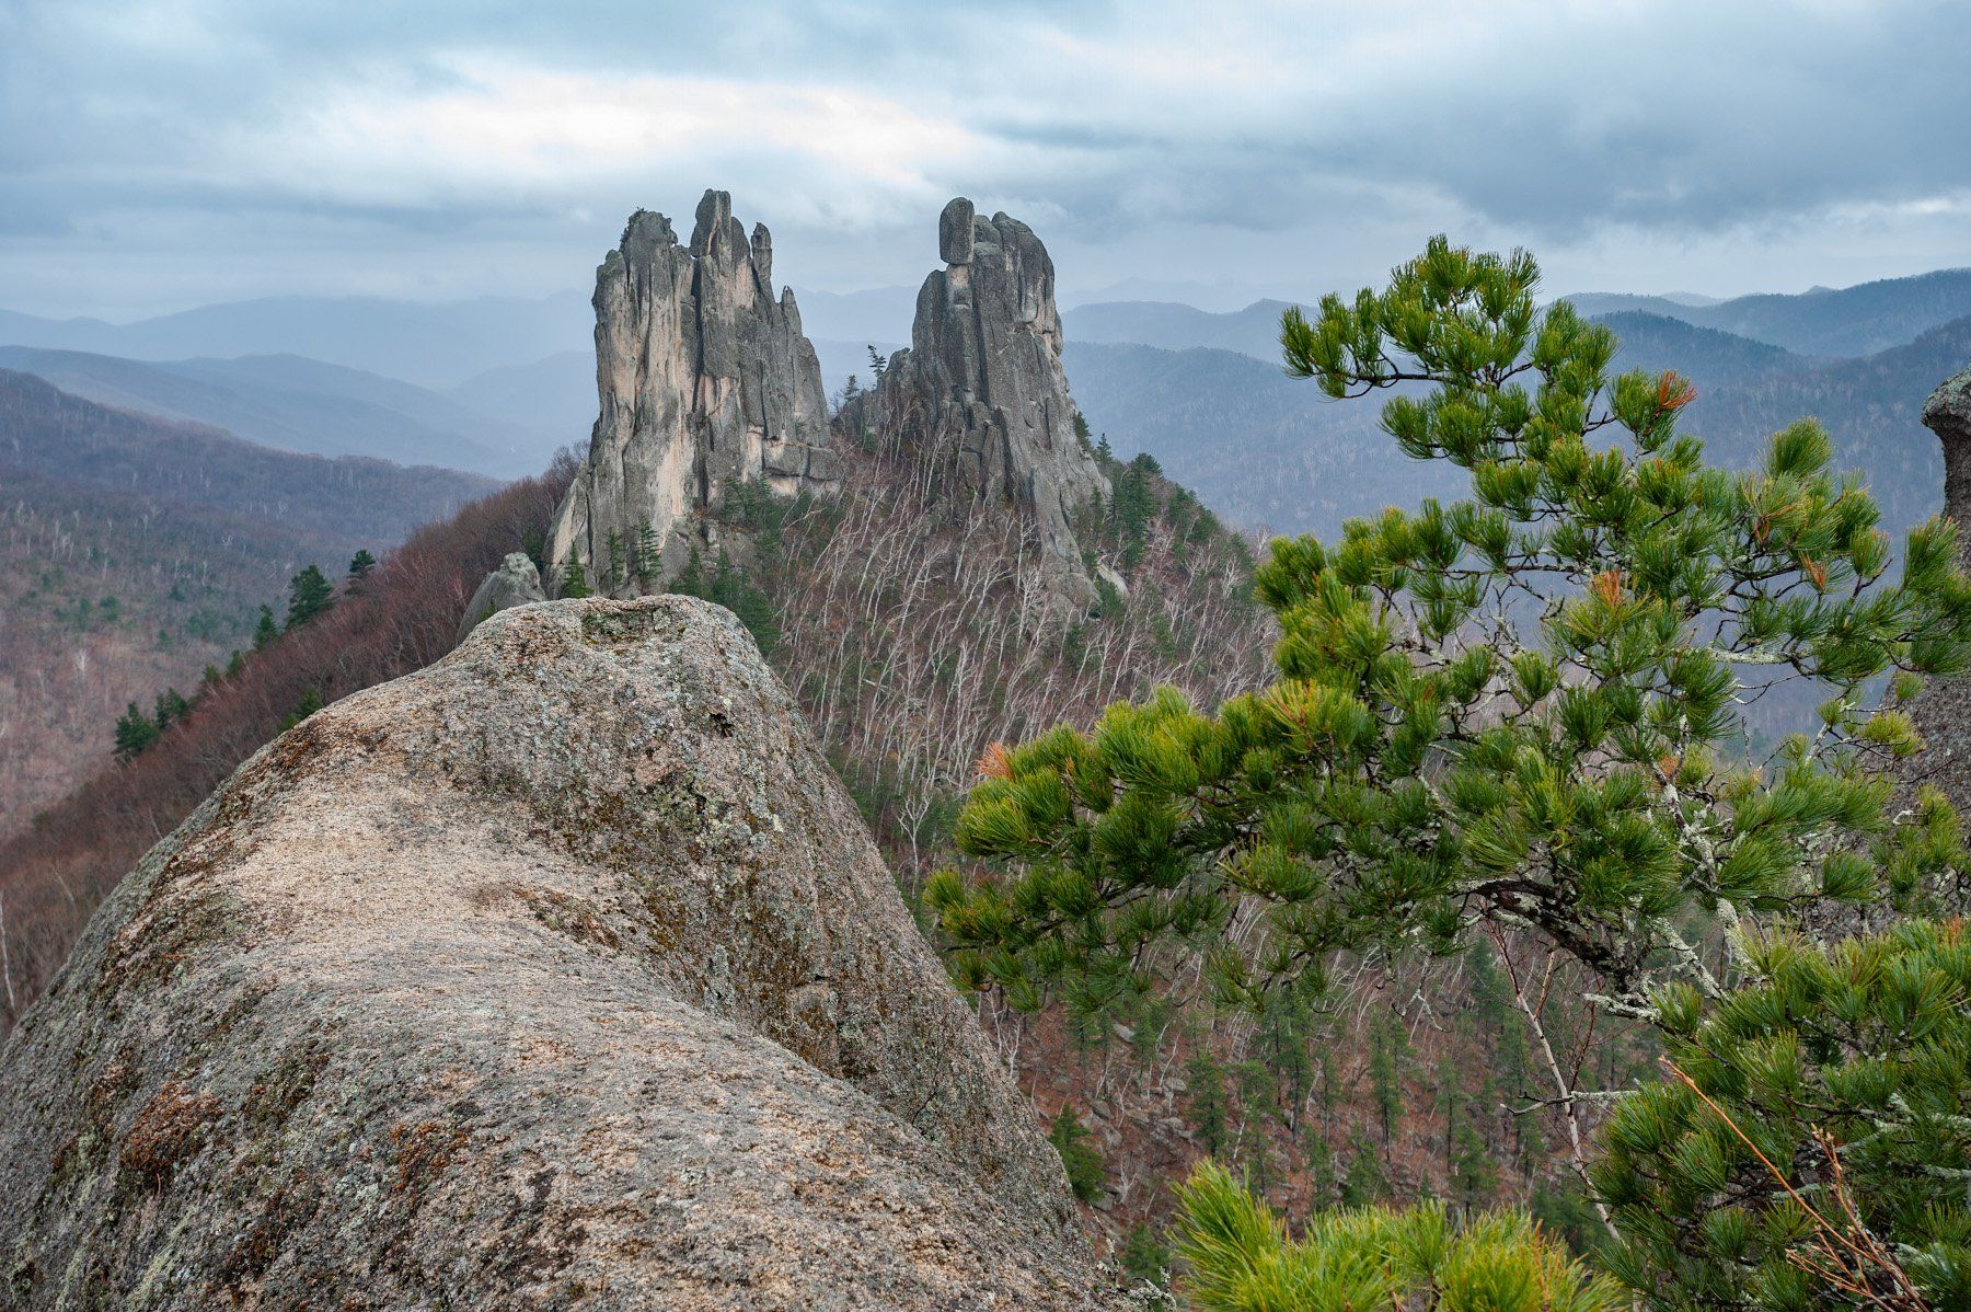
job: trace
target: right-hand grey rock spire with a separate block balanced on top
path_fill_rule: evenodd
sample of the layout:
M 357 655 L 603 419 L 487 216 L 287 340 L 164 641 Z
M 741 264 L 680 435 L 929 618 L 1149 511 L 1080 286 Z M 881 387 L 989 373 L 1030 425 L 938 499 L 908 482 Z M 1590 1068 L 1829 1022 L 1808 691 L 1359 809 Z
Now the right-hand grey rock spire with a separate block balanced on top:
M 946 268 L 917 294 L 911 349 L 838 424 L 922 443 L 950 457 L 962 489 L 1033 514 L 1056 587 L 1088 601 L 1074 516 L 1110 489 L 1074 431 L 1054 262 L 1025 223 L 982 219 L 962 197 L 938 217 L 938 256 Z

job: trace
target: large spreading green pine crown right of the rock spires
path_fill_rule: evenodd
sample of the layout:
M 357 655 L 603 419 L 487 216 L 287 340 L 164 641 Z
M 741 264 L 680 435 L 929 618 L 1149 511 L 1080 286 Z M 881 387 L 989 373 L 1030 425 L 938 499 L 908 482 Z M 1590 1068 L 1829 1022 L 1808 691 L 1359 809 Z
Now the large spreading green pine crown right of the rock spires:
M 1916 902 L 1951 869 L 1941 800 L 1888 810 L 1916 741 L 1878 689 L 1963 666 L 1955 528 L 1912 530 L 1890 579 L 1819 427 L 1713 469 L 1677 429 L 1687 386 L 1610 376 L 1614 337 L 1535 286 L 1526 254 L 1439 238 L 1386 292 L 1287 313 L 1289 370 L 1330 396 L 1423 384 L 1384 427 L 1472 494 L 1273 542 L 1273 688 L 1216 713 L 1159 689 L 1015 749 L 958 823 L 1007 873 L 926 890 L 962 983 L 1080 1007 L 1151 987 L 1171 946 L 1254 1007 L 1336 951 L 1453 951 L 1496 922 L 1652 1017 L 1665 983 L 1729 977 L 1693 918 Z M 1831 693 L 1825 721 L 1754 760 L 1744 699 L 1784 680 Z M 1224 936 L 1242 904 L 1250 953 Z

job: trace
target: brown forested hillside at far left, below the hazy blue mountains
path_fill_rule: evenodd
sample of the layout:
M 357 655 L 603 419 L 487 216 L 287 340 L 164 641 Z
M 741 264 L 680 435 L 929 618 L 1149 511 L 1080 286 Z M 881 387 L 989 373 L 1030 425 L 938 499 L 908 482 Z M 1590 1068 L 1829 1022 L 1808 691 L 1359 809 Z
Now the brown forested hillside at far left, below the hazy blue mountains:
M 493 483 L 268 451 L 0 370 L 0 833 L 99 770 L 132 699 L 189 693 L 315 563 L 339 577 Z

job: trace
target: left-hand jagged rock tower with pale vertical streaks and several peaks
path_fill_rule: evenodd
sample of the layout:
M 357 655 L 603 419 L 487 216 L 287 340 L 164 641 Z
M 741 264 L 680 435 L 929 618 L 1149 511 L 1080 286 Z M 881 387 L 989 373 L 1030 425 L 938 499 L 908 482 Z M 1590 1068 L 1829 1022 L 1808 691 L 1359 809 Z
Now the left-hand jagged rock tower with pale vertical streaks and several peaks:
M 773 238 L 755 227 L 747 240 L 725 191 L 698 203 L 690 246 L 664 215 L 631 215 L 593 303 L 601 412 L 554 516 L 550 589 L 570 559 L 603 593 L 660 587 L 692 548 L 725 546 L 715 512 L 731 479 L 781 494 L 838 485 L 794 294 L 775 299 Z

